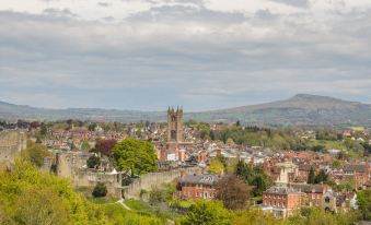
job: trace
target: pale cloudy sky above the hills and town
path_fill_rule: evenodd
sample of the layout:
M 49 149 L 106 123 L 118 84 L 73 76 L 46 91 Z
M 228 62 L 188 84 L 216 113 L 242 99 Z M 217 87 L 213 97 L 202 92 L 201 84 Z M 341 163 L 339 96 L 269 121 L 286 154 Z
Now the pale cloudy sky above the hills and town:
M 1 0 L 0 100 L 208 110 L 371 103 L 370 0 Z

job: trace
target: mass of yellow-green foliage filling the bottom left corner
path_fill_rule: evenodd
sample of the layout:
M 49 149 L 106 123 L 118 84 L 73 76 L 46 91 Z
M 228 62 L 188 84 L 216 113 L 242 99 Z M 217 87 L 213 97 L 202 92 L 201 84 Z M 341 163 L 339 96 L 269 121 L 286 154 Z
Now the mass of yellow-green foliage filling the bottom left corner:
M 0 171 L 3 224 L 107 224 L 98 206 L 77 194 L 68 180 L 38 171 L 19 158 L 12 173 Z M 0 216 L 1 217 L 1 216 Z

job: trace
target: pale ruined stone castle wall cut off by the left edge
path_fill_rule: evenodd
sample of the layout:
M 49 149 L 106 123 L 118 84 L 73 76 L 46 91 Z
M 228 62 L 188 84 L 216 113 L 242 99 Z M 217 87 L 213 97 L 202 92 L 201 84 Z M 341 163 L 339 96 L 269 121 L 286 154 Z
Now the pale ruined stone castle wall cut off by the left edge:
M 14 163 L 16 155 L 27 147 L 27 137 L 23 131 L 0 132 L 0 164 Z

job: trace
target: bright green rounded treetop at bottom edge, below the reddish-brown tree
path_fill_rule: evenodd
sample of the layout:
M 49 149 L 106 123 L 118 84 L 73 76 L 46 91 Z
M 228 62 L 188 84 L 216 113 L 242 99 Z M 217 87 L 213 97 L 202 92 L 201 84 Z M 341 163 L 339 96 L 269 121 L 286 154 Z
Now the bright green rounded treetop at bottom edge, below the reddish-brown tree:
M 196 201 L 181 221 L 181 225 L 229 225 L 231 213 L 219 201 Z

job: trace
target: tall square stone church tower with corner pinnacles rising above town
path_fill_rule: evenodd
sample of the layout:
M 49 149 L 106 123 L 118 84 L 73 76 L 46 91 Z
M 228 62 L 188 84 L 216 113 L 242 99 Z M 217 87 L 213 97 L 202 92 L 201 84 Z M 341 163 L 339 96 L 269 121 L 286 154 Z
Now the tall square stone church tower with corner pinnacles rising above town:
M 183 109 L 167 109 L 167 142 L 183 142 Z

